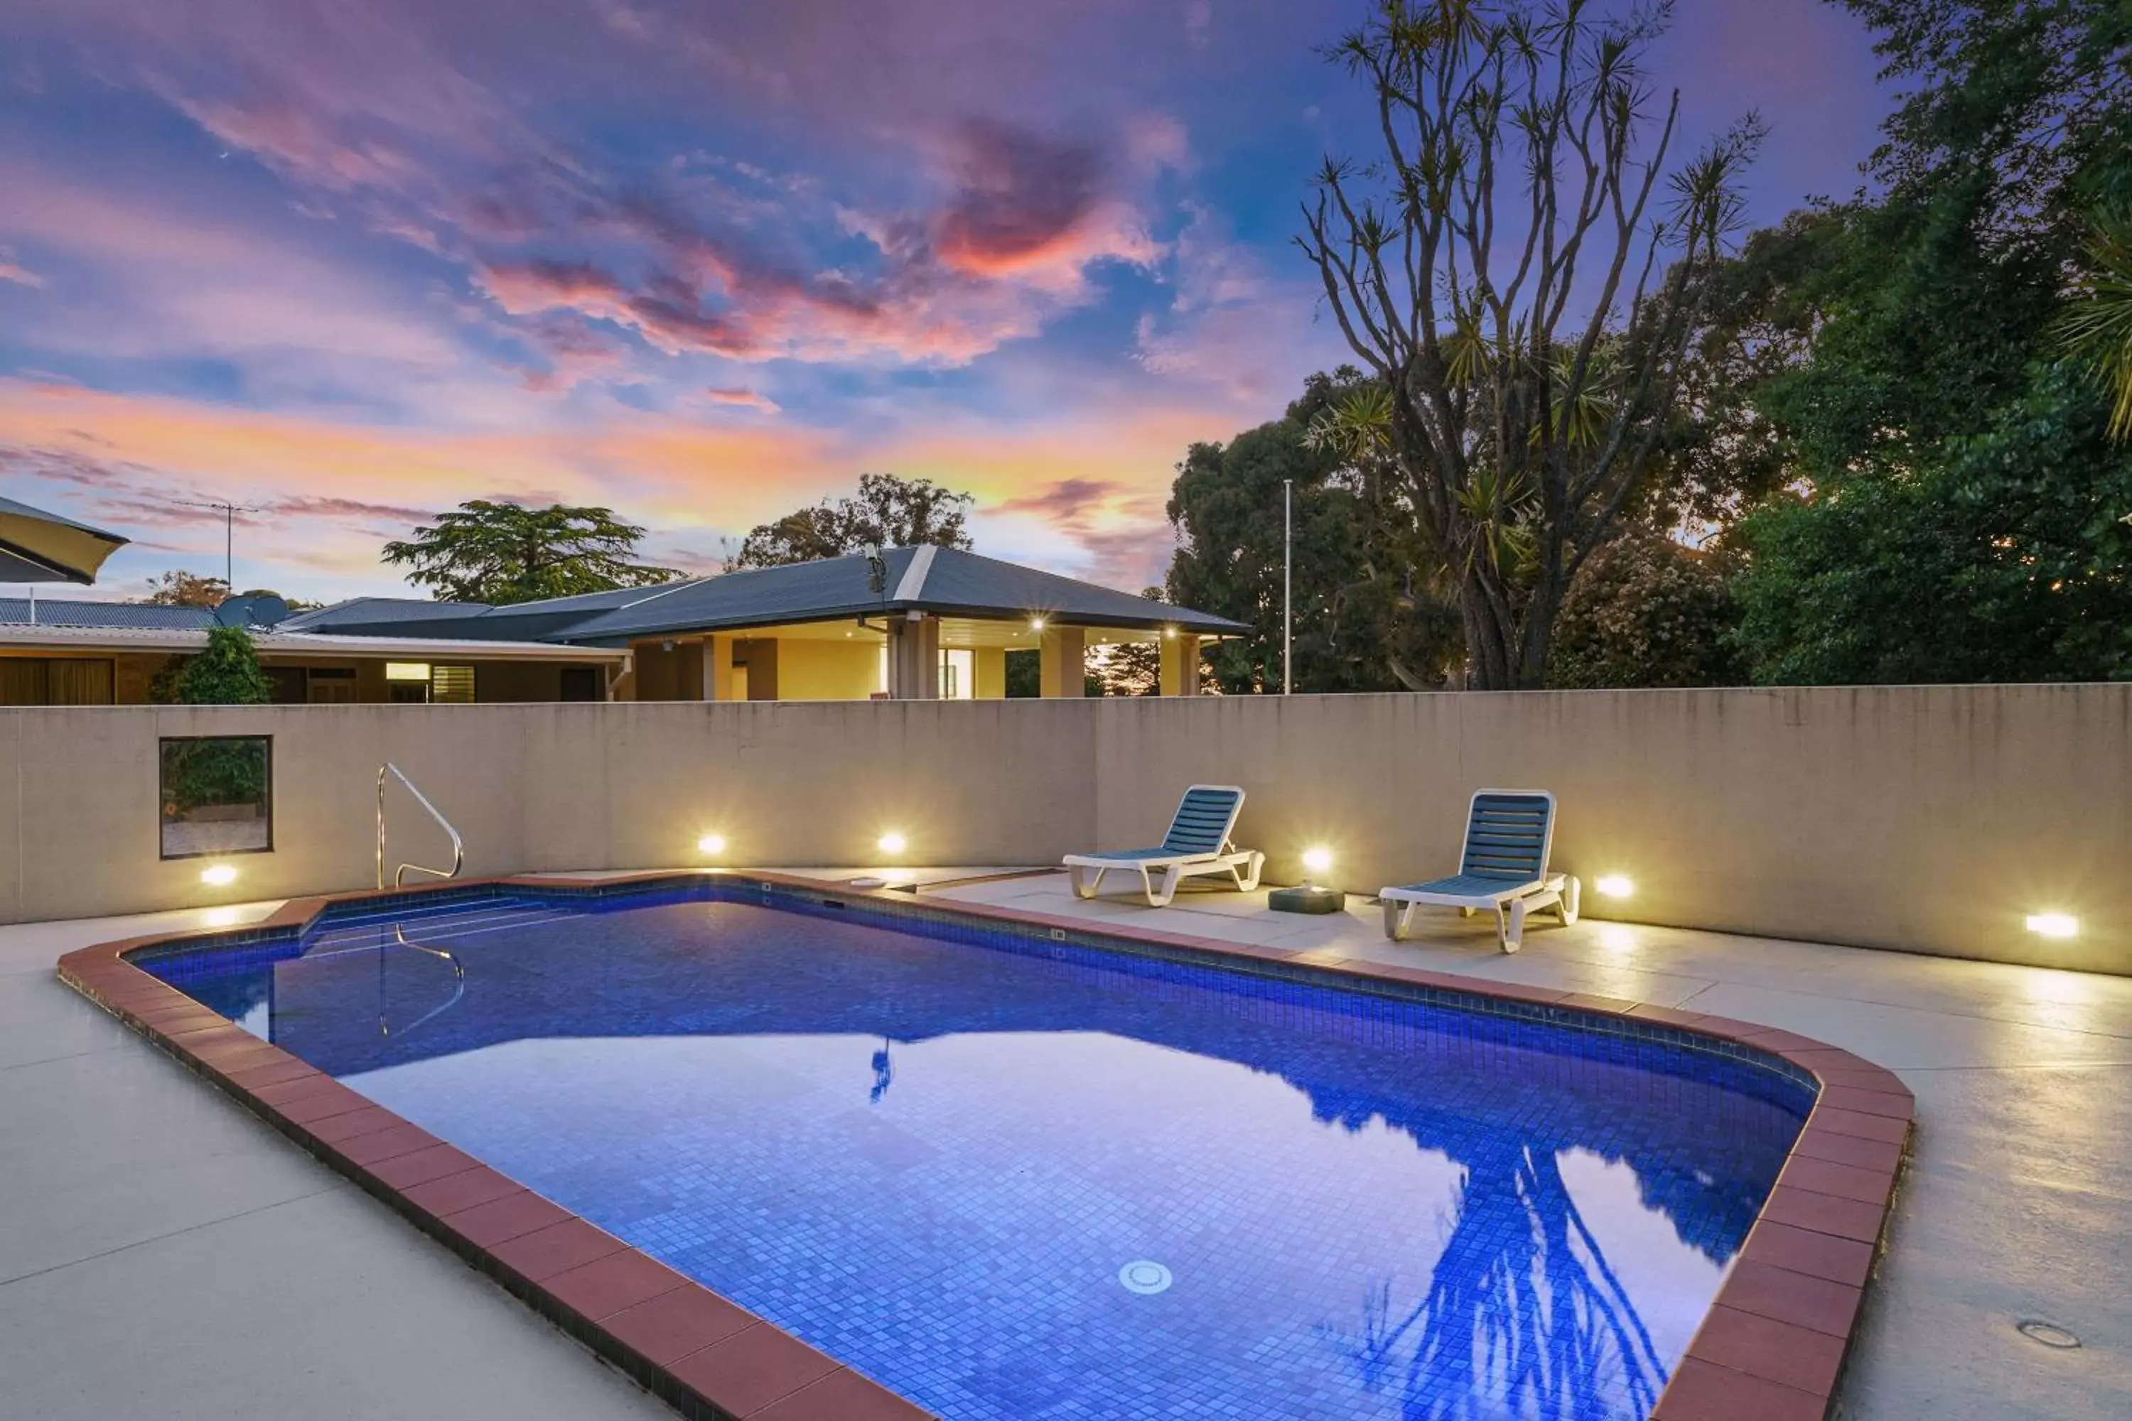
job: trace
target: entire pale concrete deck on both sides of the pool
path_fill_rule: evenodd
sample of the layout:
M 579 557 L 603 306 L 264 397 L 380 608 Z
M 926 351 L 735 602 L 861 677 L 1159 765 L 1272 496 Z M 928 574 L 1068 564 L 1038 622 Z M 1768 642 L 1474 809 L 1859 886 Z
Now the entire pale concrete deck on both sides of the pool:
M 936 882 L 925 897 L 1689 1003 L 1857 1050 L 1917 1093 L 1919 1138 L 1842 1415 L 2117 1417 L 2132 1395 L 2132 1306 L 2104 1263 L 2132 1244 L 2117 1176 L 2132 1125 L 2128 980 L 1599 922 L 1535 929 L 1505 959 L 1454 916 L 1392 946 L 1373 910 L 1290 918 L 1262 895 L 1211 893 L 1170 910 L 1079 903 L 1062 876 Z M 437 1415 L 669 1415 L 51 978 L 66 950 L 190 925 L 207 922 L 0 929 L 11 1404 L 399 1417 L 420 1398 Z M 2015 1332 L 2021 1319 L 2085 1346 L 2049 1351 Z M 196 1404 L 173 1412 L 173 1385 Z

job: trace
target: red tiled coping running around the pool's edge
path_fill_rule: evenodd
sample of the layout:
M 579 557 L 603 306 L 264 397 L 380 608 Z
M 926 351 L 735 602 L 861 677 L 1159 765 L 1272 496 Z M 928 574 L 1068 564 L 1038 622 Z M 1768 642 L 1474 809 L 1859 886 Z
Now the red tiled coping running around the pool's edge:
M 490 878 L 407 888 L 612 888 L 689 873 Z M 748 884 L 834 891 L 908 905 L 908 893 L 859 893 L 785 873 Z M 119 1016 L 254 1114 L 414 1221 L 687 1417 L 708 1421 L 915 1421 L 930 1412 L 814 1351 L 657 1259 L 631 1248 L 480 1159 L 371 1104 L 226 1016 L 126 961 L 128 952 L 228 931 L 303 929 L 326 905 L 377 893 L 290 899 L 241 929 L 185 929 L 104 942 L 60 959 L 60 978 Z M 1733 1257 L 1710 1312 L 1659 1398 L 1652 1421 L 1823 1421 L 1859 1321 L 1910 1140 L 1910 1089 L 1861 1057 L 1812 1038 L 1652 1003 L 1443 971 L 1281 952 L 1209 937 L 1092 925 L 983 903 L 932 912 L 1068 929 L 1243 961 L 1303 963 L 1328 976 L 1388 980 L 1529 1006 L 1629 1016 L 1748 1046 L 1806 1069 L 1819 1097 Z

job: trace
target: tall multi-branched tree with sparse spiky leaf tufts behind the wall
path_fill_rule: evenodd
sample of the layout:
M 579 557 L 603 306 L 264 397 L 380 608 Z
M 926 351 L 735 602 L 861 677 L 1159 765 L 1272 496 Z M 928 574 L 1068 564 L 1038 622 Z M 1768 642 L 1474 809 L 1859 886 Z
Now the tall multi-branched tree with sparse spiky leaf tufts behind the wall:
M 1674 164 L 1650 111 L 1665 6 L 1377 0 L 1335 58 L 1364 81 L 1373 162 L 1328 160 L 1303 251 L 1375 377 L 1328 420 L 1390 460 L 1450 567 L 1475 686 L 1537 686 L 1554 618 L 1674 422 L 1744 121 Z

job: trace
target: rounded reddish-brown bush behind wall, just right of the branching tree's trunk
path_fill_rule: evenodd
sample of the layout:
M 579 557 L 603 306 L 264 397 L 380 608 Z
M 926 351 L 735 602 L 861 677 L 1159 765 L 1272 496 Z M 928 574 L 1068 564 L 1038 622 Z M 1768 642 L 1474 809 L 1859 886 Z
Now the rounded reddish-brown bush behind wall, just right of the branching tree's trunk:
M 1740 605 L 1729 560 L 1657 533 L 1629 533 L 1578 573 L 1554 628 L 1548 684 L 1738 686 Z

